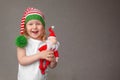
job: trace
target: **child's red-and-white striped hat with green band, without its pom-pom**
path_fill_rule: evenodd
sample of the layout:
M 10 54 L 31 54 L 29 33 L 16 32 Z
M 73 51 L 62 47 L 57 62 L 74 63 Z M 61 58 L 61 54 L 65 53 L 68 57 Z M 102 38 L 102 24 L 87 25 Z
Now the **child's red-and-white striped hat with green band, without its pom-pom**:
M 27 8 L 21 20 L 20 34 L 24 34 L 25 24 L 30 20 L 39 20 L 45 27 L 45 17 L 44 14 L 35 8 Z

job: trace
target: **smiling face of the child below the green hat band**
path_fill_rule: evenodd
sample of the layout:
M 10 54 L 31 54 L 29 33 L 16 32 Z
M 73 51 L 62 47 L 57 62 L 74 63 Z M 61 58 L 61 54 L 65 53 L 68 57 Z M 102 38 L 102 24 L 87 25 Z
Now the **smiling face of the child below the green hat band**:
M 39 20 L 30 20 L 26 24 L 26 31 L 29 37 L 40 39 L 40 36 L 44 32 L 44 26 Z

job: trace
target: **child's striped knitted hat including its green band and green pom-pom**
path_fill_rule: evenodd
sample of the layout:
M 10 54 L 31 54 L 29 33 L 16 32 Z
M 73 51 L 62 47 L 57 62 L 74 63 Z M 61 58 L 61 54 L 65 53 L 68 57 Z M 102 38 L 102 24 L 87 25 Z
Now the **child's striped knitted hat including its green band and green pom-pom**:
M 24 34 L 25 25 L 30 20 L 39 20 L 45 27 L 45 17 L 43 13 L 40 10 L 35 8 L 27 8 L 21 20 L 20 36 L 16 38 L 16 46 L 18 47 L 23 48 L 28 43 L 26 37 L 23 34 Z

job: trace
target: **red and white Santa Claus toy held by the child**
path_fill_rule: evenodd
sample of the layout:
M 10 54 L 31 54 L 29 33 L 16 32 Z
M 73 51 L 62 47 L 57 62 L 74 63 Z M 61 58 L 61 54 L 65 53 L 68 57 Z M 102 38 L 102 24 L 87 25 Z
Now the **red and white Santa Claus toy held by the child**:
M 53 31 L 54 26 L 51 26 L 49 28 L 49 37 L 46 40 L 45 43 L 43 43 L 40 48 L 39 51 L 43 51 L 43 50 L 53 50 L 54 51 L 54 56 L 56 57 L 56 62 L 58 62 L 58 57 L 59 57 L 59 53 L 58 53 L 58 47 L 59 47 L 59 42 L 56 39 L 56 35 Z M 40 59 L 40 70 L 42 74 L 45 74 L 45 70 L 47 69 L 48 65 L 50 64 L 50 61 L 45 60 L 45 59 Z

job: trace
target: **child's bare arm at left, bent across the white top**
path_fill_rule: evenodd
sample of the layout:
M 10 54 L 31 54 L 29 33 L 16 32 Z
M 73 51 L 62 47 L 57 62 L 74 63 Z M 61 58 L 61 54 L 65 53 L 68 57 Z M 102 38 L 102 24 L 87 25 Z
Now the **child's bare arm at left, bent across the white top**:
M 33 62 L 41 59 L 47 59 L 47 60 L 51 60 L 48 56 L 50 56 L 49 54 L 53 53 L 52 51 L 42 51 L 42 52 L 38 52 L 35 55 L 31 55 L 31 56 L 26 56 L 26 51 L 24 48 L 17 48 L 17 58 L 18 58 L 18 62 L 21 65 L 29 65 L 32 64 Z

